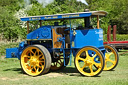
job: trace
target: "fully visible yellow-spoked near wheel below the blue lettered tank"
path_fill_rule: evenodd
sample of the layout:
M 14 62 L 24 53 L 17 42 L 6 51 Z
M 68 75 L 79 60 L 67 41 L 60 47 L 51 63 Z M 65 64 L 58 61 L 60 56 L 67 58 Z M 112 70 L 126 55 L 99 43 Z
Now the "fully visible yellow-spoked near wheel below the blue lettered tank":
M 98 50 L 85 47 L 77 53 L 75 65 L 82 75 L 96 76 L 103 70 L 104 60 Z

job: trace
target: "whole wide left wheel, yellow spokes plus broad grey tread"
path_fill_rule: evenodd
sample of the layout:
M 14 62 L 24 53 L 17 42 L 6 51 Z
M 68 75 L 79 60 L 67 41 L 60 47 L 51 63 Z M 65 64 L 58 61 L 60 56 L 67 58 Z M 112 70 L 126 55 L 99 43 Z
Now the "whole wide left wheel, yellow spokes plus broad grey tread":
M 31 76 L 47 73 L 51 67 L 51 55 L 41 45 L 30 45 L 26 47 L 20 59 L 23 72 Z

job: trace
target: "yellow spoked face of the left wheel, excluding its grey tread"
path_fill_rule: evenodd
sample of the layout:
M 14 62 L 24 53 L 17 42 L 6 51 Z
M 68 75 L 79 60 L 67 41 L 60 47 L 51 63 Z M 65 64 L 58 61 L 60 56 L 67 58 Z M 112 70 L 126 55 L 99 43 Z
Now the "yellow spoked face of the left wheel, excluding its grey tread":
M 44 54 L 36 47 L 28 47 L 21 55 L 21 65 L 27 74 L 32 76 L 39 75 L 45 67 Z

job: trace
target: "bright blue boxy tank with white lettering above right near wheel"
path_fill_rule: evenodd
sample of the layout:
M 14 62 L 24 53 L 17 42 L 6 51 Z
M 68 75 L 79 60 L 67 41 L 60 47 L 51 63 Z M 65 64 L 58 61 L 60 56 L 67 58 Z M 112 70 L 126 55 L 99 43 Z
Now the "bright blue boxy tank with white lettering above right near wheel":
M 103 47 L 103 30 L 86 29 L 75 30 L 76 35 L 71 32 L 72 48 L 82 48 L 84 46 Z

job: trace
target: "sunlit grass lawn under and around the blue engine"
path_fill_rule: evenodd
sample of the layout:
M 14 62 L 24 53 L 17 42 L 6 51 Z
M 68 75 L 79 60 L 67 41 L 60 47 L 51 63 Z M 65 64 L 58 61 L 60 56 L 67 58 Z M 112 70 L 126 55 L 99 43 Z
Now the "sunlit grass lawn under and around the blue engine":
M 126 50 L 119 54 L 123 52 Z M 81 76 L 73 62 L 63 70 L 31 77 L 22 73 L 18 59 L 1 57 L 0 85 L 128 85 L 128 53 L 119 56 L 119 64 L 114 71 L 103 71 L 98 77 Z

